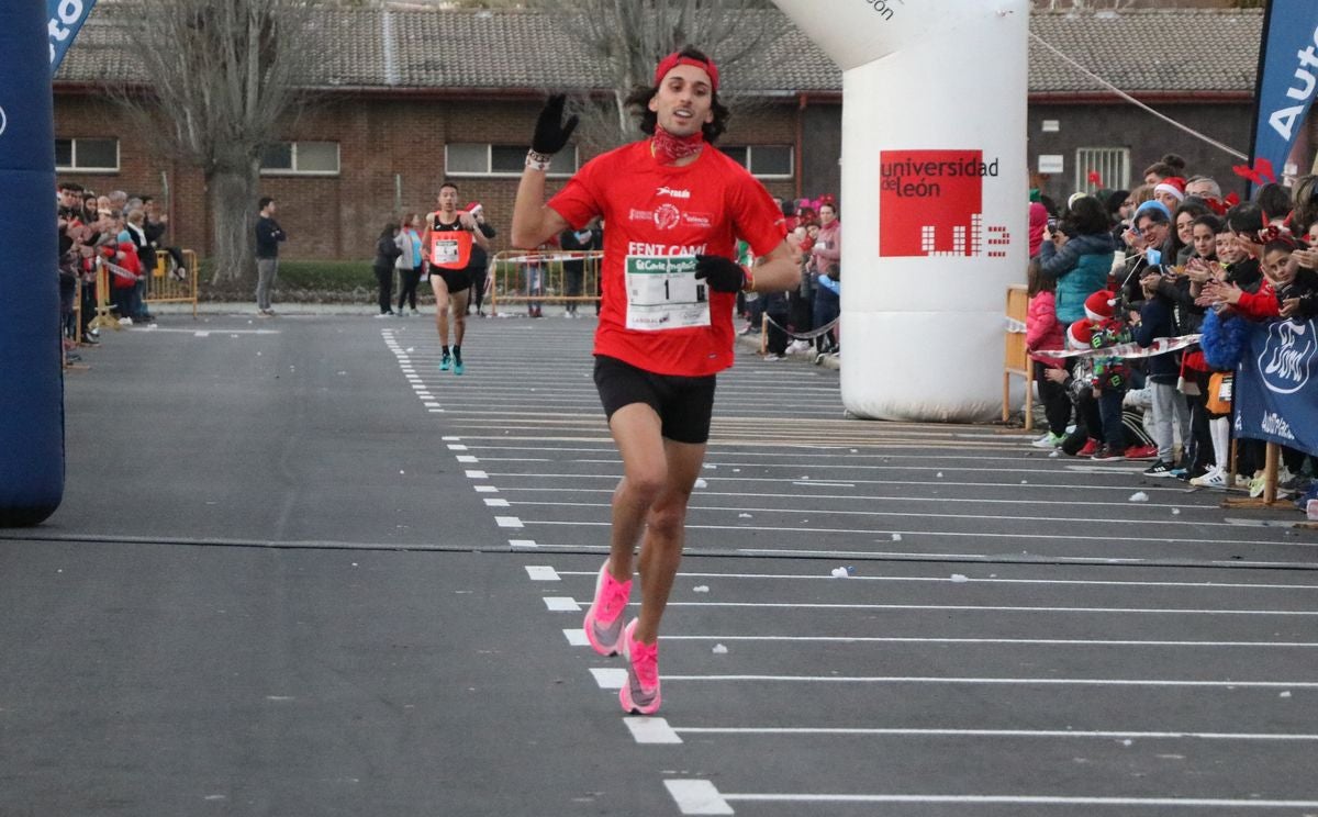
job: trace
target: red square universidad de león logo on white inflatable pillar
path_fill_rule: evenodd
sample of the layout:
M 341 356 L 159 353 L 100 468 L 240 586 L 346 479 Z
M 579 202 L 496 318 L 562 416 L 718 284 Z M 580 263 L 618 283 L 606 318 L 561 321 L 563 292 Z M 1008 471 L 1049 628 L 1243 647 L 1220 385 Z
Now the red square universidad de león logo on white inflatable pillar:
M 983 254 L 982 150 L 879 153 L 879 256 Z

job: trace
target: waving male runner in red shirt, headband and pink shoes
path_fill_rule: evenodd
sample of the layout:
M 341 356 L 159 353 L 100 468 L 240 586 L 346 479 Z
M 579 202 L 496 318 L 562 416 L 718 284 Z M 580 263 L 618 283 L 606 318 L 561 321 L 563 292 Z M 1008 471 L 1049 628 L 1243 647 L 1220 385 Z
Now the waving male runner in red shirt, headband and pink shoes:
M 800 265 L 782 212 L 743 167 L 709 146 L 724 132 L 718 69 L 696 49 L 670 54 L 654 87 L 629 103 L 648 138 L 588 162 L 544 204 L 550 159 L 577 119 L 551 98 L 535 127 L 513 211 L 513 244 L 538 246 L 602 216 L 604 303 L 594 381 L 622 456 L 613 494 L 609 560 L 600 569 L 585 633 L 601 655 L 627 655 L 626 712 L 659 709 L 659 621 L 681 561 L 687 502 L 705 457 L 714 376 L 733 364 L 738 290 L 783 291 Z M 746 240 L 759 257 L 735 264 Z M 641 614 L 623 611 L 641 540 Z

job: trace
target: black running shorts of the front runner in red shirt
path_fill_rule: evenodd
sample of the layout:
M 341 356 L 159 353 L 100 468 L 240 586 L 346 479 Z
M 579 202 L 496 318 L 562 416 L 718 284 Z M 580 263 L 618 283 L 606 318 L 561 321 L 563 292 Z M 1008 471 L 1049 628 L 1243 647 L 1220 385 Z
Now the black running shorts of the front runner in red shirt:
M 714 411 L 713 374 L 654 374 L 616 357 L 596 354 L 594 386 L 600 390 L 600 402 L 608 418 L 623 406 L 645 403 L 659 415 L 666 439 L 695 445 L 709 440 L 709 418 Z

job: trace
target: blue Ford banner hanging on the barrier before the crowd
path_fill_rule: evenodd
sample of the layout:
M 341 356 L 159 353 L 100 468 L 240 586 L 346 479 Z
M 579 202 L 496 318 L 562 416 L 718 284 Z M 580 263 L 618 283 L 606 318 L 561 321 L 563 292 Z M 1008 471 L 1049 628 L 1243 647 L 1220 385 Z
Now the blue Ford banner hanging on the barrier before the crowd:
M 1236 436 L 1318 456 L 1318 320 L 1256 324 L 1235 377 Z

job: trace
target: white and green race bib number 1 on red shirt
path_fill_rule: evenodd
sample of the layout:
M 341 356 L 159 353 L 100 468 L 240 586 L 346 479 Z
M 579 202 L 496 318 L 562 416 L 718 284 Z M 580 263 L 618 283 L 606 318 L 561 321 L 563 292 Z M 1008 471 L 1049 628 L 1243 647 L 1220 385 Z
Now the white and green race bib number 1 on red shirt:
M 709 296 L 696 281 L 695 256 L 627 256 L 627 328 L 687 329 L 709 325 Z

